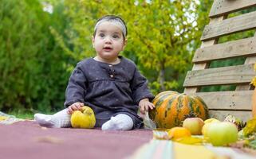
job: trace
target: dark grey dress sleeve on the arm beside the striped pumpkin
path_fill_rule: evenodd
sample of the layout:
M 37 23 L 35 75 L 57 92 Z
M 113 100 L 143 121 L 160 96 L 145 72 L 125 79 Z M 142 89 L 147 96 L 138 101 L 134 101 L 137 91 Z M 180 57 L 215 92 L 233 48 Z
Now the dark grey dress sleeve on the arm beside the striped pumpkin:
M 136 68 L 131 83 L 132 99 L 138 104 L 141 99 L 148 98 L 150 101 L 154 99 L 154 95 L 148 89 L 148 80 L 142 76 Z

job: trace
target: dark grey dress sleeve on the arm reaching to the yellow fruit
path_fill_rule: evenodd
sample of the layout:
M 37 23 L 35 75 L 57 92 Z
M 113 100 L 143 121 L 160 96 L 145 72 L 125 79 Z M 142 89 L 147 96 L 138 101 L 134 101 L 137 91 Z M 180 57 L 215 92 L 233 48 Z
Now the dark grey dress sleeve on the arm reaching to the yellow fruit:
M 81 64 L 78 63 L 69 78 L 69 84 L 65 91 L 65 107 L 69 107 L 69 105 L 76 102 L 85 103 L 86 82 Z

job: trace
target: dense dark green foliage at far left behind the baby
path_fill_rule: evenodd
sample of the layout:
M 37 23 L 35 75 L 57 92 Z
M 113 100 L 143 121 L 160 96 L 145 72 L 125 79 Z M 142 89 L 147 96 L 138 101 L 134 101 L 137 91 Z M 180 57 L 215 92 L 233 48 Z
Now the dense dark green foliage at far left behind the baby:
M 49 26 L 32 0 L 0 2 L 0 109 L 50 111 L 63 107 L 69 77 Z

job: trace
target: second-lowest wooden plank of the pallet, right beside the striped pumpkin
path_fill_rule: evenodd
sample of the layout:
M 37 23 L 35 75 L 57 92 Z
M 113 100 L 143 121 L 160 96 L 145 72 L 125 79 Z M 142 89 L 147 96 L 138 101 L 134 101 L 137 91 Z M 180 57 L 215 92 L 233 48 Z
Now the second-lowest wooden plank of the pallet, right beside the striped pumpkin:
M 195 95 L 199 95 L 211 110 L 251 111 L 253 91 L 212 91 Z

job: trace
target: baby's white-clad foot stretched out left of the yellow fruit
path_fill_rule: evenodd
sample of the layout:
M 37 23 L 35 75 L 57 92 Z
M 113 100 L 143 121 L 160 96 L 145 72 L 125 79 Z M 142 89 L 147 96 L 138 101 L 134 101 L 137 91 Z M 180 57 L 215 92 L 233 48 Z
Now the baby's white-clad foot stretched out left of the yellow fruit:
M 40 125 L 45 127 L 57 127 L 60 128 L 60 122 L 57 122 L 57 118 L 49 114 L 34 114 L 34 120 Z

